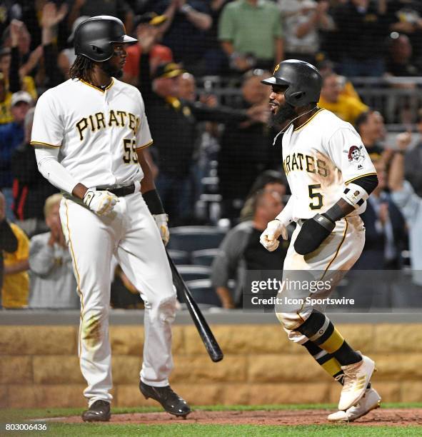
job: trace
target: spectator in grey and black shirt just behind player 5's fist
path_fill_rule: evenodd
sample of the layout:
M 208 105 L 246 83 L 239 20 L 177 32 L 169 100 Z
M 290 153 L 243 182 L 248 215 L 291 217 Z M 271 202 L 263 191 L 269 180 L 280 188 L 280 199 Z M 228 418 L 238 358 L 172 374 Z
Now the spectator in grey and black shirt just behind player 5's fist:
M 283 268 L 288 241 L 283 240 L 273 252 L 266 251 L 259 243 L 268 221 L 283 209 L 281 197 L 275 191 L 258 191 L 253 199 L 253 220 L 244 221 L 228 231 L 211 266 L 211 281 L 223 308 L 242 306 L 246 271 L 280 271 Z M 236 278 L 233 294 L 228 289 L 231 278 Z

